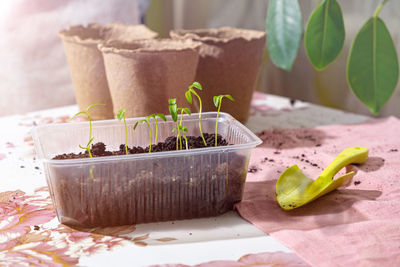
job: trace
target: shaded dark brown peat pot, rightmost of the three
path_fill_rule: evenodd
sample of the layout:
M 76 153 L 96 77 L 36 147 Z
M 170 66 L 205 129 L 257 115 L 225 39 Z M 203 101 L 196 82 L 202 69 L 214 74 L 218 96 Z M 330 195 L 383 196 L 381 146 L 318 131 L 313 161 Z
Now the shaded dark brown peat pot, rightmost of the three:
M 224 101 L 221 110 L 246 122 L 264 53 L 265 33 L 223 27 L 173 30 L 170 36 L 202 43 L 195 80 L 203 85 L 200 96 L 204 111 L 215 110 L 213 96 L 231 94 L 235 103 Z

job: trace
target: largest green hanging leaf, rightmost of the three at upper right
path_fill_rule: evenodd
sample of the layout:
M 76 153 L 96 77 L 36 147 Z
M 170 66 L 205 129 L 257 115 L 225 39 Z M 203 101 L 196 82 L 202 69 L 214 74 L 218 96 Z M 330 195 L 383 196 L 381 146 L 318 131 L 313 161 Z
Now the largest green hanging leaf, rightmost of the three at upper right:
M 357 33 L 346 68 L 354 94 L 373 114 L 389 100 L 399 78 L 399 62 L 385 23 L 370 18 Z

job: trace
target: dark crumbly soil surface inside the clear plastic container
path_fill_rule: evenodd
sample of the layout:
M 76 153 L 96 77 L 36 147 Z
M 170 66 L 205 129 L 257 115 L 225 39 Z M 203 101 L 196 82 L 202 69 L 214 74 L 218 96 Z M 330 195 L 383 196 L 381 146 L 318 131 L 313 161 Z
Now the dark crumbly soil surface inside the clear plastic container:
M 206 140 L 207 147 L 215 146 L 215 134 L 204 133 L 204 139 Z M 203 139 L 201 136 L 187 136 L 188 140 L 188 148 L 189 149 L 197 149 L 204 148 Z M 217 135 L 217 145 L 218 146 L 227 146 L 228 142 L 222 138 L 221 135 Z M 140 153 L 148 153 L 148 147 L 134 146 L 128 147 L 128 154 L 140 154 Z M 186 141 L 182 138 L 182 149 L 186 149 Z M 159 142 L 156 145 L 151 146 L 151 152 L 164 152 L 164 151 L 175 151 L 176 150 L 176 136 L 170 136 L 165 139 L 164 142 Z M 121 144 L 119 146 L 119 150 L 117 151 L 107 151 L 106 145 L 102 142 L 98 142 L 93 144 L 90 149 L 93 157 L 107 157 L 107 156 L 120 156 L 126 155 L 125 145 Z M 64 153 L 55 156 L 53 159 L 79 159 L 79 158 L 88 158 L 89 154 L 87 151 L 76 153 Z

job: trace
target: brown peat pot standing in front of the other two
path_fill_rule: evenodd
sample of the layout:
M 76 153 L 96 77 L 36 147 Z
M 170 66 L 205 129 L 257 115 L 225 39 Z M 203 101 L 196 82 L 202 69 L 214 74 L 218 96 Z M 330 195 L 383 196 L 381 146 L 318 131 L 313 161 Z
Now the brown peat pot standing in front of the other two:
M 114 113 L 121 108 L 126 108 L 127 117 L 169 113 L 169 98 L 177 98 L 178 106 L 188 106 L 184 94 L 196 75 L 199 46 L 191 40 L 171 39 L 99 45 Z

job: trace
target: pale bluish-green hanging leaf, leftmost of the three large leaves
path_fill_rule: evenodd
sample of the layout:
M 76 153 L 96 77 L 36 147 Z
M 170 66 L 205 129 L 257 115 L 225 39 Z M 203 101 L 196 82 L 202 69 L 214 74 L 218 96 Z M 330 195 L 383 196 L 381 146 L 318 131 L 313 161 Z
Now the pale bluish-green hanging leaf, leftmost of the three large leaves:
M 301 40 L 301 11 L 297 0 L 270 0 L 266 21 L 267 47 L 272 62 L 290 71 Z

